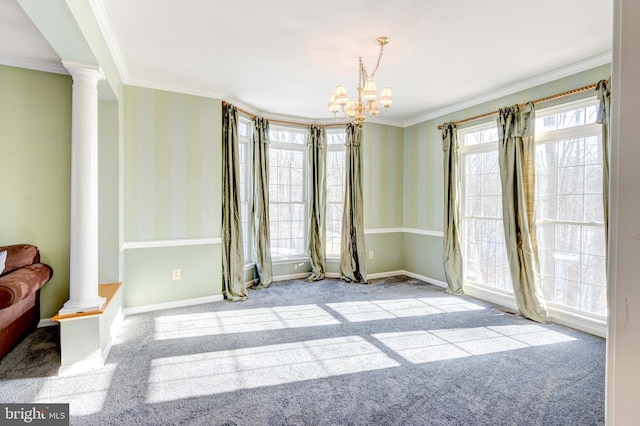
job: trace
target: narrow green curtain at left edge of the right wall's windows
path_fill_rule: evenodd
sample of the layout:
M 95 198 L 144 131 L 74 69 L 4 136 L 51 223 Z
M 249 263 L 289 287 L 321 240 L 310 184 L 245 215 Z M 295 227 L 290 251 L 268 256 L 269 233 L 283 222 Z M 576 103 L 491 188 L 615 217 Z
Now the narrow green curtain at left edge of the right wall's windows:
M 460 245 L 460 174 L 456 125 L 442 125 L 444 157 L 444 274 L 447 293 L 463 294 L 462 247 Z

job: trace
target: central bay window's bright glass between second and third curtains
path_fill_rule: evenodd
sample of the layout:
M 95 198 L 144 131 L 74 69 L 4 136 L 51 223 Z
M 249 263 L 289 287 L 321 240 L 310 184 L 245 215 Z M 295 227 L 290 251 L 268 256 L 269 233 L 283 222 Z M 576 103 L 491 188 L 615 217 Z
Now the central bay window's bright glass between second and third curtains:
M 269 221 L 274 259 L 307 252 L 306 129 L 271 126 L 269 130 Z

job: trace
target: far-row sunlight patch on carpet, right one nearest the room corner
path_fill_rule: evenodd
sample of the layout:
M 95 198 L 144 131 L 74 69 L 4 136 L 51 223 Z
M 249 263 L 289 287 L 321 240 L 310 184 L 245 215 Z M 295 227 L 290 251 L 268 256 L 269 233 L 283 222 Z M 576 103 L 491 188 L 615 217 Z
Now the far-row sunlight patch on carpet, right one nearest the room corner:
M 392 318 L 416 317 L 486 309 L 464 299 L 425 297 L 419 299 L 365 300 L 358 302 L 327 303 L 350 322 L 375 321 Z

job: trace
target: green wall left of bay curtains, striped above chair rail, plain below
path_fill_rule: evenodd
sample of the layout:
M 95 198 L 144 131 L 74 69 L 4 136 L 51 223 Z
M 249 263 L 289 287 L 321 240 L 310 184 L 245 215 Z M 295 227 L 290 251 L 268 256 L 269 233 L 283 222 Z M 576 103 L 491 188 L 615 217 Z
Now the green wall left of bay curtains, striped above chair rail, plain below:
M 123 115 L 125 247 L 220 237 L 221 101 L 125 86 Z M 220 244 L 126 248 L 125 306 L 221 294 L 221 268 Z

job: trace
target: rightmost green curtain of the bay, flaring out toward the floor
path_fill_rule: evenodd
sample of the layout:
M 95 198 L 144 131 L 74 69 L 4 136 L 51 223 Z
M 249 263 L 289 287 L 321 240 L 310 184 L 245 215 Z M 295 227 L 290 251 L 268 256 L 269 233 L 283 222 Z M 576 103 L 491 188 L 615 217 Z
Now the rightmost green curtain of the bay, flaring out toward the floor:
M 340 279 L 367 284 L 366 247 L 362 205 L 360 129 L 347 124 L 346 170 L 342 238 L 340 240 Z

